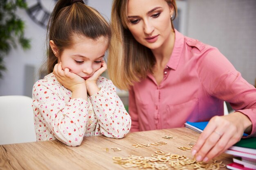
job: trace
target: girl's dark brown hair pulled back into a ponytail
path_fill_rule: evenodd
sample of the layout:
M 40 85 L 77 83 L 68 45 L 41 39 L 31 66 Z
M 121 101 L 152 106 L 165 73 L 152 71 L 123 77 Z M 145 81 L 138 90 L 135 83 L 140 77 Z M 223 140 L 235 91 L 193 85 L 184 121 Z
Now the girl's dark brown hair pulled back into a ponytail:
M 58 48 L 58 55 L 61 55 L 65 48 L 73 45 L 72 36 L 74 35 L 94 40 L 103 36 L 110 42 L 111 29 L 98 11 L 86 6 L 82 0 L 58 0 L 47 26 L 48 54 L 45 64 L 48 74 L 53 72 L 54 65 L 58 63 L 57 57 L 49 46 L 49 41 L 54 41 Z

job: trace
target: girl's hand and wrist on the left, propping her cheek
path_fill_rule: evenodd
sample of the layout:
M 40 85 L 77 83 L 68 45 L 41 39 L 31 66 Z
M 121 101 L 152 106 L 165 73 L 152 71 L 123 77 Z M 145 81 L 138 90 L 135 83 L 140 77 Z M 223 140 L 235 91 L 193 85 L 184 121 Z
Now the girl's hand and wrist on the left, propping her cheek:
M 62 70 L 61 62 L 54 66 L 53 74 L 57 80 L 72 92 L 72 98 L 87 99 L 85 80 L 79 75 L 70 72 L 70 69 Z

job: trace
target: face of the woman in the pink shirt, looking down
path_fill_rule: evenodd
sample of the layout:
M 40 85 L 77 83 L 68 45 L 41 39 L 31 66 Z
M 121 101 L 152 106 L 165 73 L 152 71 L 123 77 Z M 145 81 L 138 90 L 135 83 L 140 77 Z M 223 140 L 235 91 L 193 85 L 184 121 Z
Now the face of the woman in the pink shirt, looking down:
M 128 29 L 140 44 L 154 50 L 169 40 L 173 10 L 165 0 L 128 0 L 127 13 Z

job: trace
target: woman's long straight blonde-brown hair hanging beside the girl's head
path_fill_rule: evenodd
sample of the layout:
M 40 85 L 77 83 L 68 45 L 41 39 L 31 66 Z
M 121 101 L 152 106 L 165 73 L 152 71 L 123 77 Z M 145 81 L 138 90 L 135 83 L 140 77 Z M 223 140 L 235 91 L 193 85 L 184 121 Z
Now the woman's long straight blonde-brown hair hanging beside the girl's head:
M 165 0 L 177 15 L 175 0 Z M 113 0 L 111 13 L 112 38 L 108 55 L 108 74 L 119 89 L 129 89 L 135 82 L 153 72 L 155 57 L 152 51 L 139 44 L 128 29 L 128 0 Z M 118 72 L 117 72 L 118 70 Z

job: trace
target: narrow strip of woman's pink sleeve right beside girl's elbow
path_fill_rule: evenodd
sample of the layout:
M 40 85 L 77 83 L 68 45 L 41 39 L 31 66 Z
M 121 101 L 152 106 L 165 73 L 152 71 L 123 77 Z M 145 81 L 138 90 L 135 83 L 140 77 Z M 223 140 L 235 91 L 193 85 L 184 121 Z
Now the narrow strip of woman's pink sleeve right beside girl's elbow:
M 138 117 L 133 87 L 131 87 L 129 90 L 129 114 L 132 119 L 131 132 L 138 132 L 139 131 L 139 117 Z

